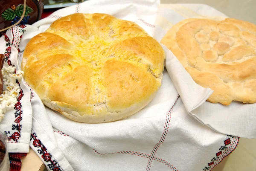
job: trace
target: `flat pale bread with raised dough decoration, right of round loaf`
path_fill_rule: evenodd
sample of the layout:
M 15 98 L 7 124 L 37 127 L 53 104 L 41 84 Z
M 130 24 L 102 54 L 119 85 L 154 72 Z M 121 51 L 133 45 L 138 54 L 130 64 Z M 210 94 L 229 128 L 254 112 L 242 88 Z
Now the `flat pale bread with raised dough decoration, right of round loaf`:
M 256 102 L 256 26 L 225 20 L 187 19 L 163 37 L 194 81 L 214 90 L 207 99 L 229 105 Z

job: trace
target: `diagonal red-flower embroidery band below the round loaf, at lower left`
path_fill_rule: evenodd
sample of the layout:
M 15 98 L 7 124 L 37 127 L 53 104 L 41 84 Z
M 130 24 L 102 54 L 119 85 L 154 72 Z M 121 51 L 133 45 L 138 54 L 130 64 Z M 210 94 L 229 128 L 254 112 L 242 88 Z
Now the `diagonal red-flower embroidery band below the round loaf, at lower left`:
M 52 154 L 50 154 L 47 151 L 47 148 L 41 143 L 40 139 L 37 138 L 36 133 L 31 133 L 30 135 L 30 141 L 33 141 L 32 145 L 35 148 L 38 148 L 38 154 L 41 155 L 41 157 L 44 159 L 45 162 L 49 162 L 49 164 L 46 164 L 51 171 L 63 171 L 61 166 L 56 162 L 55 159 L 52 159 Z

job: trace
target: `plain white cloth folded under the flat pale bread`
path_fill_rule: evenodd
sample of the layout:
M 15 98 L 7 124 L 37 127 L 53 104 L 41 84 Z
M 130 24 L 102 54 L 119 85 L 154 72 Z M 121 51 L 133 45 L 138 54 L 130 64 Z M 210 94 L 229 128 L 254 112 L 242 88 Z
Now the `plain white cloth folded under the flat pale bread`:
M 193 17 L 224 19 L 227 16 L 206 5 L 164 4 L 158 13 L 154 37 L 161 41 L 174 24 Z M 191 116 L 220 133 L 256 138 L 256 103 L 233 101 L 224 106 L 206 101 L 213 91 L 196 84 L 175 55 L 170 50 L 167 53 L 166 69 Z

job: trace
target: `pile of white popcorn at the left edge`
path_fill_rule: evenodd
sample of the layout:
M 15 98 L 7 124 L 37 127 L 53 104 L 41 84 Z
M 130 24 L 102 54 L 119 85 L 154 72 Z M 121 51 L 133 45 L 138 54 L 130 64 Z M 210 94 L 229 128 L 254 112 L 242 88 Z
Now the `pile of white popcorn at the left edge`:
M 6 86 L 6 90 L 0 95 L 0 121 L 4 118 L 4 113 L 7 110 L 15 107 L 17 98 L 20 96 L 20 87 L 17 84 L 17 80 L 22 78 L 23 71 L 16 71 L 16 67 L 3 67 L 3 85 Z

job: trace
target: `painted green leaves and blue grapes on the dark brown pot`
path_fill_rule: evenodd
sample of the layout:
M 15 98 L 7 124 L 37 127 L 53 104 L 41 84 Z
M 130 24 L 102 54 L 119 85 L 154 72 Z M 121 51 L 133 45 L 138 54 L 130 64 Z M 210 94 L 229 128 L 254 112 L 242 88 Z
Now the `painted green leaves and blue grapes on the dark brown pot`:
M 24 5 L 23 4 L 19 4 L 17 7 L 13 4 L 12 6 L 10 6 L 11 8 L 6 9 L 2 14 L 1 17 L 3 17 L 3 19 L 10 21 L 10 23 L 13 25 L 15 23 L 17 23 L 20 20 L 20 17 L 22 16 L 23 13 L 23 9 L 24 9 Z M 26 11 L 24 14 L 23 19 L 21 20 L 21 22 L 19 23 L 19 25 L 23 25 L 23 24 L 27 24 L 29 21 L 29 14 L 33 12 L 33 9 L 29 6 L 26 6 Z

